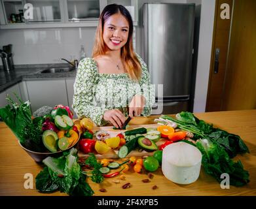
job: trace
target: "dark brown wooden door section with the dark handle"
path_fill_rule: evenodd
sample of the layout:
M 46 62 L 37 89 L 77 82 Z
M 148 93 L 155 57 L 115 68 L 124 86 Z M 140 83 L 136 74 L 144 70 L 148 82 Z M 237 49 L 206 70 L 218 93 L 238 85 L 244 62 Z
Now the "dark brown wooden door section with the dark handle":
M 227 3 L 230 8 L 230 18 L 222 19 L 221 5 Z M 225 72 L 227 65 L 227 54 L 229 49 L 230 22 L 232 14 L 232 0 L 216 0 L 215 22 L 213 29 L 213 44 L 211 50 L 210 77 L 208 84 L 208 97 L 206 102 L 206 112 L 221 110 L 223 100 Z M 219 63 L 215 63 L 215 52 L 219 49 Z M 217 67 L 215 69 L 215 67 Z

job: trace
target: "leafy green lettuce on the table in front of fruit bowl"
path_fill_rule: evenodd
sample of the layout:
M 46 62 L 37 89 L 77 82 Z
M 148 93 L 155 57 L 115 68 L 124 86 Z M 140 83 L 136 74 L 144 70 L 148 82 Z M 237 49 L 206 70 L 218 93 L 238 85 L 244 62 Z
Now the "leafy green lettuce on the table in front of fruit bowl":
M 75 148 L 61 157 L 44 159 L 46 167 L 35 178 L 36 188 L 43 193 L 59 190 L 69 195 L 93 195 L 77 159 Z

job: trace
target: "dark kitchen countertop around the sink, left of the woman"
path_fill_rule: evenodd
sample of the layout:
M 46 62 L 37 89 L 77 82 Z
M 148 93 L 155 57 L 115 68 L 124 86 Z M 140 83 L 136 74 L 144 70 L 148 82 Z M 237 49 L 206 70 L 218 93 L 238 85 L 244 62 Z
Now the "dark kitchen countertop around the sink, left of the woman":
M 58 73 L 37 73 L 43 69 L 48 68 L 48 64 L 45 65 L 27 65 L 27 67 L 16 67 L 9 72 L 0 70 L 0 93 L 5 89 L 18 84 L 22 80 L 34 80 L 34 79 L 49 79 L 49 78 L 75 78 L 77 71 L 71 72 L 58 72 Z M 51 67 L 68 67 L 69 65 L 54 64 Z

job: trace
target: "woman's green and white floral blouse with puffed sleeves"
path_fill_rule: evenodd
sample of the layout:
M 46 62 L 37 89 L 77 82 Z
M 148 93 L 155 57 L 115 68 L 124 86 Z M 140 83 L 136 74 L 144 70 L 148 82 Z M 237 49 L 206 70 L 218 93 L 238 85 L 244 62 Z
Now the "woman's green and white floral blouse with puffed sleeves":
M 106 110 L 119 109 L 128 116 L 127 106 L 136 94 L 146 99 L 142 115 L 151 114 L 155 103 L 155 91 L 150 84 L 147 65 L 137 55 L 141 63 L 141 79 L 132 80 L 128 73 L 99 73 L 93 58 L 86 57 L 79 62 L 74 84 L 73 109 L 78 118 L 90 118 L 96 125 L 106 125 L 103 114 Z

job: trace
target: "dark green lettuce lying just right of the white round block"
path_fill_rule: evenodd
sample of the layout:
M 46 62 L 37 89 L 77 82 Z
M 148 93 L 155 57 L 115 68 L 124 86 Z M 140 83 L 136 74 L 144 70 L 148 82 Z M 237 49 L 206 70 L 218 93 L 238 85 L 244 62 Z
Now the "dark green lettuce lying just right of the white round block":
M 221 174 L 227 173 L 230 185 L 242 186 L 249 182 L 249 172 L 244 170 L 241 161 L 236 163 L 230 159 L 224 148 L 208 139 L 200 139 L 196 147 L 202 153 L 202 166 L 208 174 L 221 182 Z

